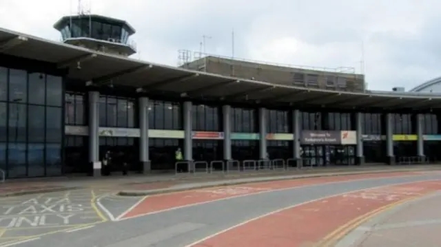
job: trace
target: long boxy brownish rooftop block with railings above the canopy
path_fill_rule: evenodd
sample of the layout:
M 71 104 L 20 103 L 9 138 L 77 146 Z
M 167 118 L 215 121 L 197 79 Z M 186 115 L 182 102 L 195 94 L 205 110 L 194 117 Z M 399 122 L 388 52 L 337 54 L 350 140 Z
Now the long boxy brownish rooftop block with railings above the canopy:
M 365 92 L 365 76 L 356 74 L 353 67 L 307 67 L 249 61 L 236 58 L 179 51 L 181 67 L 197 71 L 259 80 L 279 85 L 295 85 L 333 91 Z

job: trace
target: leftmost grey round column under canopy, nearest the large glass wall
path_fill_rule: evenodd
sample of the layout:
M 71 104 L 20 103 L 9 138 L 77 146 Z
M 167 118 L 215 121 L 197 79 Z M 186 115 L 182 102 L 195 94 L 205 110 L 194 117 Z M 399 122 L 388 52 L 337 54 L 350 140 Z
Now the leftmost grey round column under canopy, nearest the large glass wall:
M 99 164 L 99 92 L 89 92 L 89 163 L 94 177 L 101 176 Z

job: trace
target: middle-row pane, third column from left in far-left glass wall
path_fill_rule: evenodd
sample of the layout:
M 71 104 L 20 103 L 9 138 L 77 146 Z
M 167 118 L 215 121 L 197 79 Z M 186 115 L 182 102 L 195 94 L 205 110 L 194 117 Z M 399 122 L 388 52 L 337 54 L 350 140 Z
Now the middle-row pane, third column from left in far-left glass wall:
M 44 142 L 44 108 L 29 105 L 28 107 L 28 142 Z

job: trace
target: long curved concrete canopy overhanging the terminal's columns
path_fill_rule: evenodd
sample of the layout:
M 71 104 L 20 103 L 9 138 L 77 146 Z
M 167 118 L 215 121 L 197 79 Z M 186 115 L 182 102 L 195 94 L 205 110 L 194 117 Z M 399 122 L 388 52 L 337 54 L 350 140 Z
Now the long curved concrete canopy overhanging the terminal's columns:
M 95 52 L 0 28 L 0 53 L 69 68 L 68 76 L 94 85 L 110 83 L 134 87 L 136 92 L 210 98 L 225 103 L 256 102 L 342 109 L 441 108 L 441 94 L 414 92 L 336 92 L 243 80 L 158 65 L 134 58 Z

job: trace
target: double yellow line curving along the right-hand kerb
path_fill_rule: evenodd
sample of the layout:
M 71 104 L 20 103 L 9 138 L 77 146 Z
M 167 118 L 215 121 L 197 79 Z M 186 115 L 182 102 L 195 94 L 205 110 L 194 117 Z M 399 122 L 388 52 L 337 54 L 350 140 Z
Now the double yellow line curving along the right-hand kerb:
M 385 206 L 382 206 L 380 208 L 377 208 L 376 210 L 370 211 L 369 213 L 365 213 L 364 215 L 361 215 L 359 217 L 356 217 L 355 219 L 352 219 L 351 221 L 347 222 L 346 224 L 343 224 L 333 232 L 329 233 L 326 237 L 320 241 L 320 243 L 317 245 L 317 247 L 331 247 L 335 246 L 337 242 L 345 237 L 347 233 L 351 232 L 351 230 L 354 230 L 364 222 L 367 222 L 369 219 L 372 219 L 373 217 L 376 217 L 380 213 L 383 213 L 385 211 L 388 211 L 389 209 L 398 206 L 400 204 L 404 204 L 405 202 L 410 202 L 413 200 L 416 200 L 420 197 L 423 197 L 424 195 L 428 195 L 430 193 L 424 193 L 422 195 L 417 195 L 415 197 L 410 197 L 407 199 L 399 200 L 397 202 L 393 202 L 391 204 L 387 204 Z

